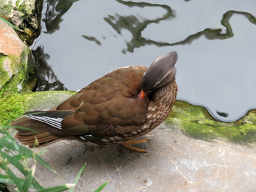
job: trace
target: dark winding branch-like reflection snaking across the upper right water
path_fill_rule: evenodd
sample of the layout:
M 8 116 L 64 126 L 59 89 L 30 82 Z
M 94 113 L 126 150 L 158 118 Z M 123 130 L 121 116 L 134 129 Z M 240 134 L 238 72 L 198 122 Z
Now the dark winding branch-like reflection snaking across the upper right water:
M 117 0 L 119 1 L 119 0 Z M 139 18 L 136 16 L 120 16 L 119 14 L 115 14 L 114 16 L 109 15 L 105 17 L 105 21 L 114 28 L 115 31 L 119 35 L 122 35 L 122 29 L 130 31 L 132 33 L 132 40 L 127 42 L 127 50 L 122 50 L 122 53 L 126 53 L 127 51 L 133 53 L 135 48 L 140 48 L 146 45 L 155 45 L 155 46 L 178 46 L 178 45 L 186 45 L 190 44 L 201 36 L 205 36 L 209 40 L 213 39 L 226 39 L 234 36 L 232 27 L 230 26 L 229 20 L 234 14 L 245 16 L 252 24 L 256 24 L 256 18 L 252 14 L 242 12 L 242 11 L 227 11 L 223 14 L 223 18 L 221 20 L 221 24 L 225 26 L 225 33 L 222 33 L 221 28 L 206 28 L 203 31 L 199 31 L 198 33 L 192 34 L 188 36 L 183 41 L 178 41 L 175 43 L 168 42 L 160 42 L 154 41 L 149 38 L 144 38 L 142 36 L 142 31 L 148 26 L 150 23 L 159 23 L 161 20 L 165 20 L 168 18 L 175 18 L 174 11 L 166 5 L 159 4 L 148 4 L 148 3 L 134 3 L 134 2 L 124 2 L 119 1 L 127 6 L 159 6 L 163 9 L 166 9 L 166 14 L 161 18 L 156 18 L 154 20 L 144 19 L 143 21 L 139 21 Z

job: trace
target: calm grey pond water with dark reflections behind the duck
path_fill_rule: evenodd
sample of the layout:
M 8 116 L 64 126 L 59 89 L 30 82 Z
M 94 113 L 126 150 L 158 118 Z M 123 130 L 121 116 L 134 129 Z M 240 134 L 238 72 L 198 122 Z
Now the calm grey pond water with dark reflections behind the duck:
M 48 0 L 31 48 L 38 90 L 79 90 L 178 52 L 178 100 L 233 121 L 256 108 L 255 0 Z

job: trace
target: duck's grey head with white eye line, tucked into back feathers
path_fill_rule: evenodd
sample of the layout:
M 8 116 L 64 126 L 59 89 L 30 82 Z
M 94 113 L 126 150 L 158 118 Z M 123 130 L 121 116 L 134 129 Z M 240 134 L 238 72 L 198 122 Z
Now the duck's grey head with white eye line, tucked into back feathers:
M 175 80 L 176 68 L 174 67 L 178 59 L 176 51 L 159 56 L 146 70 L 142 78 L 142 90 L 152 92 Z

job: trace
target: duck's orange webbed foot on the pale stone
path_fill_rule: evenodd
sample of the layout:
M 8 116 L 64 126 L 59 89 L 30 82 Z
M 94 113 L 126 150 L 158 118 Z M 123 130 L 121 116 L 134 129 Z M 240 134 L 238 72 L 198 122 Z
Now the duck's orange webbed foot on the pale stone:
M 130 140 L 128 142 L 122 143 L 122 146 L 132 151 L 147 153 L 148 151 L 147 151 L 146 143 L 149 142 L 150 140 L 151 139 L 145 139 L 145 138 L 134 139 L 134 140 Z

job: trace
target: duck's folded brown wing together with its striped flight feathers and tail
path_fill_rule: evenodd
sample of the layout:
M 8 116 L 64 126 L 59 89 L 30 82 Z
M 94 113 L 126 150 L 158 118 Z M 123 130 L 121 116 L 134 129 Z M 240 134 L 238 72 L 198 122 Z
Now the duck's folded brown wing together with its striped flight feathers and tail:
M 35 138 L 44 145 L 73 136 L 106 143 L 112 136 L 128 135 L 145 121 L 147 101 L 137 97 L 145 71 L 142 66 L 119 68 L 50 111 L 27 112 L 12 125 L 36 132 L 18 129 L 16 138 L 33 146 Z

